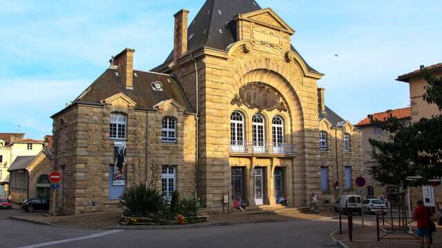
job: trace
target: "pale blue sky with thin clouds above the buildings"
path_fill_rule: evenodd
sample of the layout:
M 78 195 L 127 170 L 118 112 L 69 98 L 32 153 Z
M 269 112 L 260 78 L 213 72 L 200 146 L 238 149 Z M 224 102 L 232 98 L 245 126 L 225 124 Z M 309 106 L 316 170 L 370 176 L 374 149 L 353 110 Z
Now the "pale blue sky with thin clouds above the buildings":
M 234 1 L 234 0 L 231 0 Z M 292 43 L 326 75 L 326 104 L 358 122 L 371 112 L 405 107 L 400 74 L 442 62 L 442 1 L 270 1 L 296 30 Z M 173 14 L 203 0 L 25 1 L 0 3 L 0 132 L 43 138 L 50 115 L 75 99 L 123 48 L 149 70 L 171 51 Z M 338 57 L 334 56 L 338 54 Z

